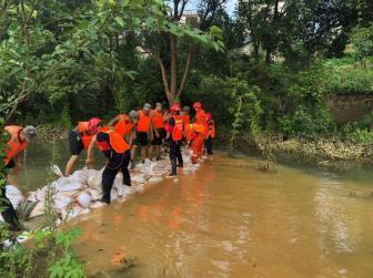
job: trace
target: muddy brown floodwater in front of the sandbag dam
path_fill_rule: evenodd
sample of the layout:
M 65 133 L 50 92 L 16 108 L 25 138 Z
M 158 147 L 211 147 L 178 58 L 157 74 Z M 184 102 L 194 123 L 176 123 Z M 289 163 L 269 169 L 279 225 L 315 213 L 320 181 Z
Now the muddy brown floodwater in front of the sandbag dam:
M 371 174 L 258 164 L 219 153 L 92 210 L 77 255 L 94 277 L 373 277 Z

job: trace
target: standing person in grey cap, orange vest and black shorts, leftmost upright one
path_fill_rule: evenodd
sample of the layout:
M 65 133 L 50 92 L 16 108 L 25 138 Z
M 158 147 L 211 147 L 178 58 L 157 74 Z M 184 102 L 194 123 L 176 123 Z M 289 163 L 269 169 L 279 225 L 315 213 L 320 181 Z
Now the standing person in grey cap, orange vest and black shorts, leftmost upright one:
M 132 142 L 131 148 L 131 168 L 134 167 L 134 156 L 139 145 L 141 146 L 142 163 L 145 164 L 145 159 L 149 158 L 149 141 L 153 140 L 153 124 L 150 116 L 150 111 L 151 105 L 149 103 L 145 103 L 142 110 L 139 111 L 139 121 L 135 127 L 135 138 Z

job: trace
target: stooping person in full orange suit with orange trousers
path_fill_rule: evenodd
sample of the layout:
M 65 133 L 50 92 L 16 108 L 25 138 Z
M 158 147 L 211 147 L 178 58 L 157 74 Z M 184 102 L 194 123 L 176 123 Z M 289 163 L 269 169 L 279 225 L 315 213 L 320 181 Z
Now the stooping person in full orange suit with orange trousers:
M 188 146 L 192 148 L 192 163 L 198 164 L 202 155 L 203 143 L 205 138 L 205 127 L 203 124 L 192 123 L 188 127 L 190 137 L 188 138 Z

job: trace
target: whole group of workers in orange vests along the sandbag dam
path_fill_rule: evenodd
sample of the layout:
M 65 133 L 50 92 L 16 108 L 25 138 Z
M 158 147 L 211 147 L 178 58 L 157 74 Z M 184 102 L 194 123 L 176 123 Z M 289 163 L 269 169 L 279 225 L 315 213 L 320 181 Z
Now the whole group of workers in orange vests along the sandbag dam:
M 67 163 L 64 175 L 69 176 L 83 150 L 87 150 L 85 165 L 93 166 L 93 148 L 97 146 L 107 157 L 108 163 L 102 173 L 102 202 L 110 204 L 110 192 L 119 172 L 123 174 L 123 184 L 131 186 L 130 169 L 134 168 L 138 147 L 144 165 L 149 161 L 163 159 L 163 147 L 168 146 L 171 161 L 169 177 L 178 175 L 178 167 L 183 167 L 181 148 L 184 145 L 192 151 L 192 163 L 196 164 L 204 154 L 213 155 L 212 142 L 215 137 L 215 125 L 211 113 L 205 113 L 201 102 L 193 104 L 195 116 L 191 119 L 189 106 L 181 107 L 174 103 L 170 110 L 163 110 L 157 103 L 152 110 L 145 103 L 140 111 L 119 114 L 109 123 L 98 117 L 88 122 L 79 122 L 69 134 L 71 157 Z M 7 172 L 16 172 L 20 167 L 20 153 L 36 135 L 36 128 L 9 125 L 4 131 L 10 134 L 8 147 L 3 150 Z M 8 177 L 7 177 L 8 178 Z M 11 182 L 8 178 L 8 184 Z M 16 184 L 16 183 L 12 183 Z M 2 189 L 2 196 L 6 192 Z M 17 214 L 11 205 L 2 213 L 6 222 L 17 226 Z

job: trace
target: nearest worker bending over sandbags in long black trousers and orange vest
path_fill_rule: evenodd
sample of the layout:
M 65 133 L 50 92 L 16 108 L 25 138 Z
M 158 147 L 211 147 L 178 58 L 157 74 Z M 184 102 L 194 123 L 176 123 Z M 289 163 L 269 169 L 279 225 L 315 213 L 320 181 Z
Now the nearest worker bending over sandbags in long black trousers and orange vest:
M 123 184 L 131 186 L 131 176 L 129 172 L 129 163 L 131 159 L 130 145 L 125 142 L 123 136 L 113 127 L 99 127 L 98 133 L 92 137 L 87 152 L 87 165 L 92 164 L 92 153 L 94 144 L 97 143 L 99 150 L 108 158 L 107 166 L 102 172 L 102 202 L 110 204 L 111 188 L 114 184 L 118 172 L 123 174 Z

